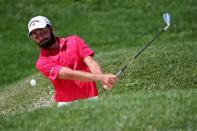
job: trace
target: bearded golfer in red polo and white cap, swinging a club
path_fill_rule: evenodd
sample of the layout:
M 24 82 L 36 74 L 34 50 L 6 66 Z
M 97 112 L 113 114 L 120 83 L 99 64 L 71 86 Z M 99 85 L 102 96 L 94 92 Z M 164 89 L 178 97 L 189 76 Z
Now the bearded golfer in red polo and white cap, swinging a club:
M 115 85 L 116 75 L 103 74 L 93 59 L 95 52 L 79 36 L 55 37 L 51 22 L 44 16 L 33 17 L 28 30 L 41 48 L 36 68 L 53 83 L 54 98 L 60 106 L 97 98 L 97 81 L 108 90 Z

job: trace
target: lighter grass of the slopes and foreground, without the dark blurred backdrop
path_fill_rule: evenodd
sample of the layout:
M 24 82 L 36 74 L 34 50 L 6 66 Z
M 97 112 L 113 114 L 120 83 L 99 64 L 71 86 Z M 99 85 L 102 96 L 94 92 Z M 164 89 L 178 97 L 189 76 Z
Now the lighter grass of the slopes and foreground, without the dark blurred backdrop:
M 57 108 L 49 81 L 40 74 L 29 76 L 1 92 L 0 128 L 195 130 L 194 45 L 191 42 L 153 45 L 129 66 L 116 87 L 101 94 L 97 102 L 81 100 Z M 138 48 L 100 53 L 96 59 L 106 71 L 116 72 L 137 51 Z M 31 78 L 36 78 L 36 87 L 29 85 Z

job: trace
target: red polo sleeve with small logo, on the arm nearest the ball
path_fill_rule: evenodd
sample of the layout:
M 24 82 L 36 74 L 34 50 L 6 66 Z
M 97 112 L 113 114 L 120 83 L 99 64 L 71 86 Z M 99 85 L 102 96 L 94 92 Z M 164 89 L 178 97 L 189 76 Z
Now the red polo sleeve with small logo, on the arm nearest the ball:
M 42 59 L 36 63 L 36 68 L 50 80 L 55 80 L 62 66 L 48 59 Z

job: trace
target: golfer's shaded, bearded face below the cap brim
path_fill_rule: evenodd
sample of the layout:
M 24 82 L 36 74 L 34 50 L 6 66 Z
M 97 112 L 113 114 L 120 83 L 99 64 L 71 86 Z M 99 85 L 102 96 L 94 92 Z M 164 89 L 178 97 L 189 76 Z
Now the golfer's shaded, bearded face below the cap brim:
M 33 30 L 31 37 L 38 46 L 44 49 L 48 49 L 55 42 L 55 36 L 49 27 Z

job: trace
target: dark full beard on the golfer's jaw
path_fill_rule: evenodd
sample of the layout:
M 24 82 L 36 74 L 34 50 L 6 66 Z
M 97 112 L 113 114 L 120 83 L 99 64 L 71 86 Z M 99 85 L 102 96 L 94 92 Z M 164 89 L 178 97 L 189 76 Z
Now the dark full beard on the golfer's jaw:
M 48 49 L 51 45 L 55 43 L 55 35 L 51 32 L 50 38 L 45 38 L 40 44 L 37 44 L 42 49 Z

